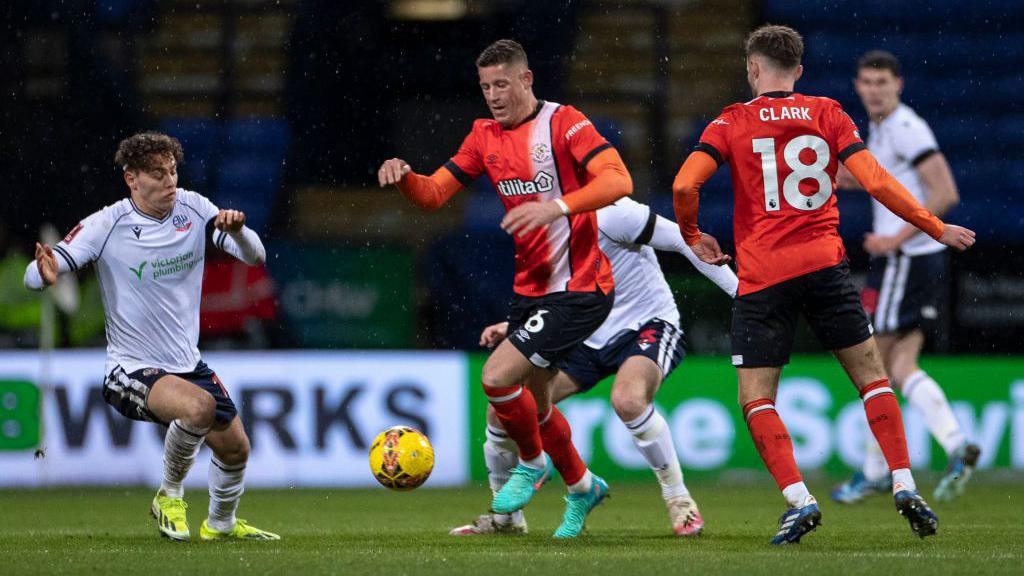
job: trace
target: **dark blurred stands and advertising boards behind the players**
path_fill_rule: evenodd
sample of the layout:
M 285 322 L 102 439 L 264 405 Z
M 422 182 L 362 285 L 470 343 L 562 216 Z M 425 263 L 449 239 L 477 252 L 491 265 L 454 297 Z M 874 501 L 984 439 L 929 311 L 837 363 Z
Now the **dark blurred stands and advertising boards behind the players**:
M 856 58 L 885 48 L 902 59 L 904 101 L 932 125 L 959 186 L 949 218 L 979 237 L 952 258 L 945 321 L 925 367 L 982 442 L 982 466 L 1024 468 L 1017 1 L 37 0 L 0 11 L 0 485 L 158 478 L 159 434 L 139 425 L 133 435 L 99 397 L 94 276 L 79 277 L 77 298 L 41 298 L 22 285 L 40 230 L 62 234 L 124 197 L 113 153 L 143 129 L 177 136 L 180 186 L 244 210 L 267 247 L 258 269 L 209 251 L 202 310 L 201 348 L 252 431 L 251 482 L 370 484 L 367 445 L 400 422 L 426 428 L 438 448 L 428 486 L 482 480 L 476 344 L 511 294 L 502 207 L 477 181 L 420 214 L 377 188 L 381 161 L 401 157 L 419 171 L 443 163 L 487 113 L 473 58 L 513 37 L 530 56 L 539 97 L 588 114 L 626 159 L 635 197 L 671 217 L 670 183 L 699 131 L 749 98 L 742 41 L 765 22 L 805 36 L 798 90 L 840 100 L 862 129 Z M 868 197 L 842 193 L 840 203 L 862 281 Z M 722 170 L 701 192 L 701 217 L 727 245 L 731 207 Z M 658 399 L 684 469 L 760 469 L 723 357 L 729 301 L 685 259 L 662 262 L 691 348 Z M 810 356 L 787 370 L 780 406 L 801 461 L 841 472 L 862 457 L 862 416 L 847 410 L 856 408 L 852 390 L 806 331 L 798 347 Z M 602 396 L 606 388 L 567 410 L 577 443 L 600 462 L 595 469 L 646 479 Z M 920 437 L 916 461 L 941 468 L 920 419 L 908 426 Z M 33 458 L 38 446 L 46 457 Z M 204 482 L 202 470 L 191 478 Z

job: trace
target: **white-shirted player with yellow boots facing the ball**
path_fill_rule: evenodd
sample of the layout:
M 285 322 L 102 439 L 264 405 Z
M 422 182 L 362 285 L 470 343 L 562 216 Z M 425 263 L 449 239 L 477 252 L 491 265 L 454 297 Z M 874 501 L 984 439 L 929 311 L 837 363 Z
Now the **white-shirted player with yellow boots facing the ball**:
M 89 215 L 56 245 L 36 244 L 25 285 L 42 290 L 95 263 L 106 316 L 103 399 L 128 418 L 167 426 L 164 480 L 150 508 L 160 533 L 189 539 L 181 483 L 205 441 L 213 457 L 200 537 L 278 540 L 234 517 L 249 438 L 197 347 L 207 225 L 212 221 L 218 248 L 247 264 L 262 263 L 266 252 L 244 213 L 177 188 L 182 157 L 178 140 L 165 134 L 122 140 L 114 161 L 129 197 Z

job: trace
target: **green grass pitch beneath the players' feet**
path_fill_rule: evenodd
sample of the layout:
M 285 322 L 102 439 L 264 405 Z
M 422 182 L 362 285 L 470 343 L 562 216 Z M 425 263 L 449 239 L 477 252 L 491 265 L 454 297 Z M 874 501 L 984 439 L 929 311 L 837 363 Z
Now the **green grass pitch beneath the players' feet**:
M 826 483 L 812 488 L 826 497 Z M 890 497 L 848 507 L 821 503 L 824 525 L 797 546 L 771 548 L 781 499 L 768 483 L 690 487 L 708 522 L 694 540 L 671 536 L 653 483 L 612 486 L 589 533 L 553 541 L 559 490 L 527 508 L 525 537 L 455 538 L 447 529 L 479 512 L 483 488 L 252 490 L 241 517 L 280 542 L 172 543 L 147 516 L 148 490 L 0 491 L 0 573 L 138 574 L 981 574 L 1024 566 L 1024 487 L 975 484 L 936 505 L 939 534 L 914 537 Z M 206 494 L 194 490 L 194 535 Z

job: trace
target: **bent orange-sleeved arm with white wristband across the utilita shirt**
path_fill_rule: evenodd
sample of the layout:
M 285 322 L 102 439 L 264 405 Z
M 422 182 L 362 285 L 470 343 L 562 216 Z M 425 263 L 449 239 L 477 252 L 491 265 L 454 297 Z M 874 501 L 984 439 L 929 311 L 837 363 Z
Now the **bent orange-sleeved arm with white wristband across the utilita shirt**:
M 547 202 L 527 202 L 509 210 L 502 230 L 525 236 L 562 216 L 604 208 L 633 194 L 633 177 L 613 148 L 605 149 L 587 163 L 591 180 L 572 194 Z

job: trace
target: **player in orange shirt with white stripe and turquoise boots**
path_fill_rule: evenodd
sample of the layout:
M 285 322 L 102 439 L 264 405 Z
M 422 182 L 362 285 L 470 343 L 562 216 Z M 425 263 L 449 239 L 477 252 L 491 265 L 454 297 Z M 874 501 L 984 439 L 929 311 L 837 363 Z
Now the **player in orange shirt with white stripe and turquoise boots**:
M 459 152 L 433 174 L 418 174 L 393 158 L 378 177 L 380 186 L 394 184 L 414 204 L 432 210 L 485 174 L 505 204 L 501 225 L 515 241 L 515 295 L 509 337 L 487 359 L 482 380 L 519 449 L 519 465 L 495 494 L 492 509 L 511 513 L 529 502 L 550 474 L 547 452 L 569 490 L 554 535 L 571 538 L 583 531 L 608 486 L 587 469 L 557 408 L 538 421 L 534 395 L 550 400 L 555 365 L 611 310 L 614 283 L 598 247 L 594 210 L 630 195 L 633 181 L 587 117 L 534 95 L 534 74 L 517 42 L 495 42 L 476 67 L 494 119 L 475 121 Z

